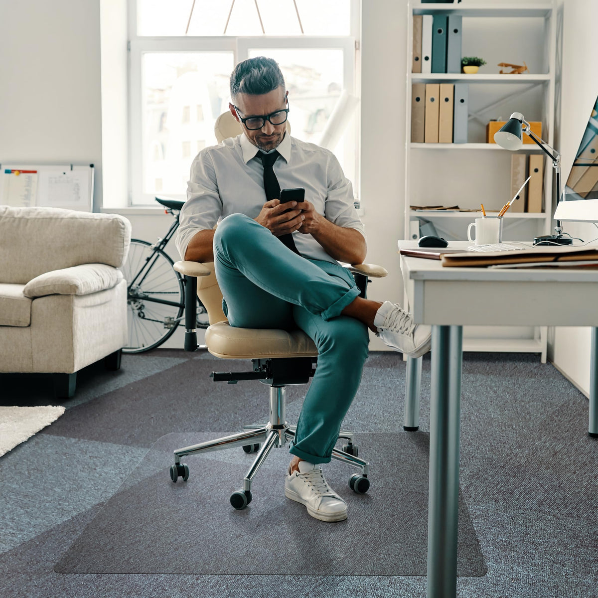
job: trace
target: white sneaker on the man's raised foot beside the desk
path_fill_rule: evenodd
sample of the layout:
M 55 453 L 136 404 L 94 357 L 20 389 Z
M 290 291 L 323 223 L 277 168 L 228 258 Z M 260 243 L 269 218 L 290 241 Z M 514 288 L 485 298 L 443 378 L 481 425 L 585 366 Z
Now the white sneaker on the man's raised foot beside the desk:
M 421 357 L 430 350 L 432 328 L 414 324 L 413 316 L 395 303 L 385 301 L 380 306 L 374 326 L 378 329 L 377 337 L 410 357 Z

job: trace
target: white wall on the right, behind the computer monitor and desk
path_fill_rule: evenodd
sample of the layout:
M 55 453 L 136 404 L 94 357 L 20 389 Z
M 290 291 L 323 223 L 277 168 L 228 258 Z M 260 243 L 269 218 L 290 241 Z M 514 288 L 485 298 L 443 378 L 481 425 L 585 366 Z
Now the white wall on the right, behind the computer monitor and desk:
M 563 59 L 560 127 L 557 149 L 562 154 L 563 179 L 568 176 L 581 136 L 598 96 L 596 0 L 559 0 L 563 14 Z M 596 239 L 592 224 L 565 222 L 563 229 L 585 241 Z M 598 308 L 597 308 L 598 309 Z M 586 395 L 590 389 L 590 328 L 556 328 L 549 358 Z

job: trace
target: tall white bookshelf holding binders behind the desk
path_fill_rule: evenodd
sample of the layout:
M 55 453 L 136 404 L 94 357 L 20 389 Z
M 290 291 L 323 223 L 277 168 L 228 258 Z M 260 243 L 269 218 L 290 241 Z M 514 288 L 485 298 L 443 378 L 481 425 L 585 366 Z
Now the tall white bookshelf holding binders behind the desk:
M 462 56 L 481 56 L 487 64 L 475 75 L 460 73 L 411 73 L 413 59 L 413 15 L 457 14 L 462 20 Z M 498 212 L 511 199 L 512 152 L 485 142 L 486 123 L 491 118 L 508 120 L 522 112 L 528 121 L 542 122 L 542 139 L 554 145 L 556 71 L 556 6 L 554 2 L 484 2 L 420 4 L 407 6 L 407 98 L 405 101 L 405 213 L 404 236 L 411 239 L 411 221 L 431 222 L 448 240 L 466 240 L 469 222 L 481 216 L 480 203 Z M 499 74 L 499 62 L 523 64 L 529 73 Z M 414 83 L 467 83 L 469 85 L 469 132 L 465 144 L 411 142 L 411 89 Z M 542 153 L 535 144 L 525 144 L 526 154 Z M 430 173 L 433 173 L 431 176 Z M 447 184 L 446 181 L 449 181 Z M 410 205 L 459 205 L 480 212 L 411 210 Z M 505 215 L 504 240 L 532 240 L 550 234 L 553 228 L 553 168 L 544 160 L 544 211 Z M 506 338 L 505 334 L 511 334 Z M 473 336 L 471 336 L 473 334 Z M 465 350 L 533 352 L 546 359 L 545 328 L 490 328 L 468 331 Z

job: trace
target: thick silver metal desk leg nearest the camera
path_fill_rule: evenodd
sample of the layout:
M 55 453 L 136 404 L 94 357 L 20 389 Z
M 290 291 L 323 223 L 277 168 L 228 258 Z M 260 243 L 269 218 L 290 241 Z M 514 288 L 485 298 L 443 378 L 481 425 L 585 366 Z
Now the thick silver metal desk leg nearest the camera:
M 455 598 L 463 328 L 432 327 L 428 598 Z

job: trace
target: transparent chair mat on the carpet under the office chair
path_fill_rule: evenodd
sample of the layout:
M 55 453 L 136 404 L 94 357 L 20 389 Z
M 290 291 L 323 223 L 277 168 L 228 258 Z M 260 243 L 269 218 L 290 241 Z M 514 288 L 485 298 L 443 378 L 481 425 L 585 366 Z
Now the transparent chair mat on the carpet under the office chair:
M 364 495 L 347 484 L 357 469 L 336 461 L 325 465 L 328 483 L 350 513 L 335 524 L 315 520 L 303 505 L 285 498 L 286 450 L 270 454 L 252 486 L 254 499 L 241 511 L 228 498 L 242 486 L 255 455 L 240 447 L 188 456 L 188 481 L 170 481 L 174 449 L 222 435 L 160 438 L 56 572 L 426 575 L 428 434 L 361 435 L 359 454 L 371 460 L 372 485 Z M 485 573 L 461 497 L 457 575 Z

